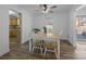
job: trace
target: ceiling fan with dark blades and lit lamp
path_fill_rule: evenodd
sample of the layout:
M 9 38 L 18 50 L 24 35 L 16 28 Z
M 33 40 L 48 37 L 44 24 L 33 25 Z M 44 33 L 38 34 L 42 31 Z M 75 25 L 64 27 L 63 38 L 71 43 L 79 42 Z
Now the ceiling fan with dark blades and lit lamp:
M 42 13 L 47 13 L 47 12 L 52 13 L 51 10 L 57 8 L 57 5 L 52 5 L 52 4 L 40 4 L 39 7 L 40 7 Z

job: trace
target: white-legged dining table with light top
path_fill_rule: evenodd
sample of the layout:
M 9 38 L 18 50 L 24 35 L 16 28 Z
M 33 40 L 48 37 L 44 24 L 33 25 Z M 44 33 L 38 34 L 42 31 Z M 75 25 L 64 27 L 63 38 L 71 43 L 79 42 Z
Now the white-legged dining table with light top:
M 41 36 L 40 39 L 41 40 L 47 40 L 47 39 L 57 39 L 57 43 L 58 43 L 58 59 L 60 59 L 60 36 L 56 35 L 53 33 L 39 33 L 38 36 Z M 32 47 L 33 47 L 33 42 L 32 39 L 35 37 L 35 34 L 32 34 L 29 37 L 29 52 L 32 52 Z

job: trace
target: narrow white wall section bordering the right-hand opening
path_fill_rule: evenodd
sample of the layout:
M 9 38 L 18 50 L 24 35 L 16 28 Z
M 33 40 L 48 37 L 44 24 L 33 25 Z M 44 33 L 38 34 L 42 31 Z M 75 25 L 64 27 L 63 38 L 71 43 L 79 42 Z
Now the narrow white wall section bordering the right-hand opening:
M 75 17 L 76 17 L 76 9 L 79 5 L 75 5 L 70 10 L 69 13 L 69 41 L 73 47 L 76 46 L 76 29 L 75 29 Z

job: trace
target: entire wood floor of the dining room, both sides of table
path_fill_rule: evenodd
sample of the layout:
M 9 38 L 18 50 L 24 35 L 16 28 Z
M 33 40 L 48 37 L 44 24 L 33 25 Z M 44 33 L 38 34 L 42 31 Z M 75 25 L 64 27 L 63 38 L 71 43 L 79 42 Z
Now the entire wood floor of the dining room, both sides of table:
M 82 47 L 78 47 L 82 48 Z M 86 50 L 73 48 L 69 42 L 61 41 L 60 60 L 84 60 Z M 56 60 L 54 53 L 47 53 L 46 57 L 40 55 L 39 50 L 33 54 L 28 52 L 28 42 L 16 46 L 9 53 L 1 56 L 0 60 Z

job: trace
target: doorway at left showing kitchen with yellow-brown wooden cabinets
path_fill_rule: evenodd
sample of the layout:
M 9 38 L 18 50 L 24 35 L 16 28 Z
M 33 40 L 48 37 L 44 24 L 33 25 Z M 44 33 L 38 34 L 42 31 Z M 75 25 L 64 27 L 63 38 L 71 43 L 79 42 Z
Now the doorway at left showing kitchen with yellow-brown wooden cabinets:
M 9 10 L 9 38 L 10 38 L 10 49 L 21 44 L 22 38 L 22 15 L 15 10 Z

